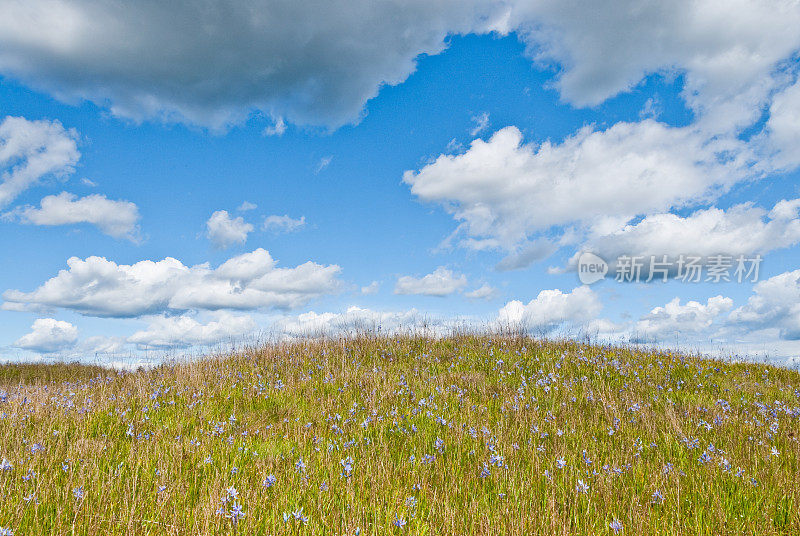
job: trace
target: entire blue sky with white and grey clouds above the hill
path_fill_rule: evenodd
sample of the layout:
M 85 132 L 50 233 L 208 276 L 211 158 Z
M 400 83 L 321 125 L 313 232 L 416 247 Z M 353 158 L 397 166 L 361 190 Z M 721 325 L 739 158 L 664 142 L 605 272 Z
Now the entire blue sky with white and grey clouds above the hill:
M 0 11 L 2 360 L 503 324 L 800 356 L 796 0 Z

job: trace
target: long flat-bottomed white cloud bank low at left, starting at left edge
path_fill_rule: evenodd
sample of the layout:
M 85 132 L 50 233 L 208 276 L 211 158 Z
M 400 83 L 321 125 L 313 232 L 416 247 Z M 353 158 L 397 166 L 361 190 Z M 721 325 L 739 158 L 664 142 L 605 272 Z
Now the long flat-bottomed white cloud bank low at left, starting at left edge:
M 60 307 L 84 315 L 136 317 L 190 310 L 293 309 L 339 288 L 336 265 L 306 262 L 278 268 L 257 249 L 216 269 L 160 261 L 116 264 L 103 257 L 72 257 L 68 268 L 32 292 L 8 290 L 3 309 Z

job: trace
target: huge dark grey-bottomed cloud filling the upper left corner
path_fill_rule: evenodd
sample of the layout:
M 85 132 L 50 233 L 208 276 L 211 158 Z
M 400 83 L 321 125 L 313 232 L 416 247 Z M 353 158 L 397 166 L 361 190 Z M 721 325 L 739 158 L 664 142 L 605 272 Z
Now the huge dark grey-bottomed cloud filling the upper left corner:
M 259 110 L 276 120 L 357 121 L 448 35 L 506 11 L 483 0 L 276 0 L 4 4 L 0 73 L 117 115 L 214 128 Z

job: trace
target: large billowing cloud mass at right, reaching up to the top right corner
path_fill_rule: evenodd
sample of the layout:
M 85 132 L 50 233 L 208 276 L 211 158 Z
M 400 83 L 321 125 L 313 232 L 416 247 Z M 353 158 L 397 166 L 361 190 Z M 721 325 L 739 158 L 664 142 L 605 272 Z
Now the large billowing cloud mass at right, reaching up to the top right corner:
M 585 127 L 538 146 L 507 127 L 407 171 L 404 180 L 460 223 L 454 236 L 461 246 L 505 250 L 497 266 L 505 270 L 548 255 L 526 251 L 547 229 L 607 235 L 637 217 L 710 202 L 743 179 L 793 169 L 800 165 L 800 83 L 792 83 L 786 60 L 800 49 L 800 36 L 787 21 L 800 21 L 800 6 L 511 2 L 504 30 L 516 30 L 537 62 L 555 64 L 564 100 L 594 106 L 650 74 L 681 76 L 694 122 Z M 764 131 L 747 143 L 737 138 L 765 108 Z

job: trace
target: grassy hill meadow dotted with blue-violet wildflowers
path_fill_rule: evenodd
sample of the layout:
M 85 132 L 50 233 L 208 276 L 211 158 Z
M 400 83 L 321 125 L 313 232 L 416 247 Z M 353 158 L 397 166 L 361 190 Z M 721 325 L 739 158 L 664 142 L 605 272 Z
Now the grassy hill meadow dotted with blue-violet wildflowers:
M 800 534 L 798 417 L 796 371 L 519 337 L 7 365 L 0 527 Z

